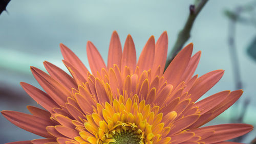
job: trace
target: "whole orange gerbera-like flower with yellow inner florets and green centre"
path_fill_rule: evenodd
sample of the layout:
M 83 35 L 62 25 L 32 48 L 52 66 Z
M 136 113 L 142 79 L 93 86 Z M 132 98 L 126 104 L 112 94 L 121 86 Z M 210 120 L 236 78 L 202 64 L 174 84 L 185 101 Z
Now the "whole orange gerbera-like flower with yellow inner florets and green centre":
M 14 125 L 45 137 L 23 143 L 228 143 L 223 141 L 251 131 L 253 127 L 247 124 L 201 127 L 229 108 L 243 91 L 222 91 L 198 101 L 224 70 L 193 76 L 201 52 L 191 57 L 190 43 L 164 71 L 167 44 L 166 32 L 156 43 L 151 36 L 137 62 L 132 36 L 127 36 L 122 52 L 114 31 L 107 66 L 88 41 L 91 73 L 60 44 L 63 63 L 72 77 L 45 61 L 49 75 L 31 67 L 45 92 L 20 83 L 46 110 L 28 106 L 32 115 L 2 114 Z

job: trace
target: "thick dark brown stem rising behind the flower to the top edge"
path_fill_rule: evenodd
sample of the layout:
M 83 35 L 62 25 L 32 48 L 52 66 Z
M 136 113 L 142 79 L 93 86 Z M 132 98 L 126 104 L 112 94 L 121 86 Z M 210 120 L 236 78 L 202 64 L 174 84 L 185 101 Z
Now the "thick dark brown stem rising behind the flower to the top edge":
M 178 38 L 175 42 L 175 45 L 172 51 L 169 53 L 167 57 L 165 69 L 170 64 L 170 62 L 172 62 L 172 60 L 179 53 L 179 51 L 182 49 L 185 42 L 190 38 L 190 31 L 191 31 L 191 28 L 193 27 L 194 21 L 207 2 L 208 0 L 199 0 L 199 1 L 196 1 L 195 5 L 190 5 L 189 7 L 190 14 L 187 18 L 185 26 L 183 27 L 183 29 L 180 31 L 178 35 Z

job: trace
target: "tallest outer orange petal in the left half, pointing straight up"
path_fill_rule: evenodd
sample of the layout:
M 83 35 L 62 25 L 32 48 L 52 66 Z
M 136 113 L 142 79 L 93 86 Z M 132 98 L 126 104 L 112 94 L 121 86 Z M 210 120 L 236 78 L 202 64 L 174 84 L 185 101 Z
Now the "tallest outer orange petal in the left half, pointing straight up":
M 116 31 L 112 33 L 110 40 L 109 56 L 108 56 L 108 69 L 116 64 L 121 67 L 122 59 L 122 45 Z

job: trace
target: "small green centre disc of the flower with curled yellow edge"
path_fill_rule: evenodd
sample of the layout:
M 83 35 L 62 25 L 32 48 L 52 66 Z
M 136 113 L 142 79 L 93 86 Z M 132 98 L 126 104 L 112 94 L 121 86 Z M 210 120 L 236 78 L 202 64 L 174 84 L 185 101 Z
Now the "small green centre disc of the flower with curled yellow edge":
M 110 143 L 142 143 L 143 135 L 141 130 L 138 130 L 134 124 L 122 124 L 122 126 L 118 126 L 115 130 L 112 131 L 113 137 L 112 139 L 115 142 Z

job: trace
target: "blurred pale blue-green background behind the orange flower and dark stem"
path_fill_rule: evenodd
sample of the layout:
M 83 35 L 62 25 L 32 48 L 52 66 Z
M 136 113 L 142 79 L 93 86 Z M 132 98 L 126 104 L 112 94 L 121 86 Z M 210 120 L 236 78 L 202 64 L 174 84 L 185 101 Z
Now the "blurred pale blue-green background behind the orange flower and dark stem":
M 38 106 L 19 82 L 40 87 L 29 66 L 45 70 L 42 64 L 45 60 L 66 69 L 61 62 L 60 42 L 70 47 L 87 67 L 87 41 L 96 45 L 106 62 L 114 30 L 122 45 L 127 34 L 132 35 L 137 57 L 151 35 L 158 39 L 167 31 L 170 52 L 184 27 L 191 4 L 194 1 L 12 0 L 7 6 L 8 13 L 4 11 L 0 15 L 0 110 L 28 113 L 27 105 Z M 231 123 L 240 118 L 241 123 L 256 126 L 254 5 L 254 1 L 246 0 L 209 1 L 195 20 L 186 42 L 194 43 L 194 53 L 202 51 L 196 74 L 201 76 L 211 70 L 225 69 L 220 82 L 203 98 L 223 90 L 236 90 L 239 78 L 235 79 L 234 72 L 240 71 L 244 94 L 238 103 L 207 125 Z M 238 62 L 230 59 L 230 50 L 234 47 Z M 233 70 L 232 62 L 239 65 L 239 70 Z M 0 143 L 39 138 L 12 125 L 3 115 L 0 115 L 0 126 Z M 256 130 L 253 130 L 242 142 L 249 143 L 255 136 Z

